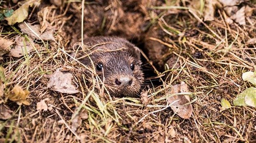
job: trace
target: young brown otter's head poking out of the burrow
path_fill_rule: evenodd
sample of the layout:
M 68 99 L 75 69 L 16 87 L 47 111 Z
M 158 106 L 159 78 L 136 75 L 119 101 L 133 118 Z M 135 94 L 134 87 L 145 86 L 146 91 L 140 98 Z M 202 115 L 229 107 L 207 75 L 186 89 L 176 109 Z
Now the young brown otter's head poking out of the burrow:
M 89 66 L 94 63 L 98 76 L 115 97 L 136 97 L 144 81 L 140 51 L 123 38 L 91 37 L 84 40 L 90 50 L 78 53 L 80 61 Z M 89 59 L 88 56 L 91 58 Z

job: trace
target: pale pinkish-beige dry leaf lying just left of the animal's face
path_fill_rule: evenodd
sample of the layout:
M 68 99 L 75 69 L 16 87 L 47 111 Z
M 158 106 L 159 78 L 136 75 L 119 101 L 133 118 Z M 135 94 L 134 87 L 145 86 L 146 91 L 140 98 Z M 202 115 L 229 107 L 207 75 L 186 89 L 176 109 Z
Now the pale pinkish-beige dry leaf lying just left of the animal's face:
M 74 94 L 79 91 L 72 82 L 73 75 L 66 71 L 60 71 L 57 69 L 51 76 L 47 87 L 54 91 L 59 91 L 61 93 Z

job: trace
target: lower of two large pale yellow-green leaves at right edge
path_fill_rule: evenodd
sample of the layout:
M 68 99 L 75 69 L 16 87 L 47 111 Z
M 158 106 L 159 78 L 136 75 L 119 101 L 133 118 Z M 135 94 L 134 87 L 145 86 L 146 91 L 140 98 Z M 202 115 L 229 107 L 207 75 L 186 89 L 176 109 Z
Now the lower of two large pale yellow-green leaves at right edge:
M 245 100 L 246 97 L 246 100 Z M 242 93 L 237 95 L 236 99 L 234 99 L 233 104 L 235 106 L 253 106 L 255 107 L 256 103 L 256 88 L 250 87 L 245 89 Z

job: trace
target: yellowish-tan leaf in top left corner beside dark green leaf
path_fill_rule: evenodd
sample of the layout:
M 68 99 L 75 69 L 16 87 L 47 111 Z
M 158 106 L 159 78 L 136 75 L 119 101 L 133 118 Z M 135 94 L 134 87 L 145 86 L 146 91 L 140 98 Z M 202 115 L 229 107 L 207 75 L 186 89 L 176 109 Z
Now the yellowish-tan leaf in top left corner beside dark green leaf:
M 17 10 L 13 12 L 11 17 L 5 18 L 8 21 L 8 25 L 14 25 L 15 23 L 20 23 L 28 17 L 28 8 L 32 6 L 32 2 L 26 2 L 22 4 Z

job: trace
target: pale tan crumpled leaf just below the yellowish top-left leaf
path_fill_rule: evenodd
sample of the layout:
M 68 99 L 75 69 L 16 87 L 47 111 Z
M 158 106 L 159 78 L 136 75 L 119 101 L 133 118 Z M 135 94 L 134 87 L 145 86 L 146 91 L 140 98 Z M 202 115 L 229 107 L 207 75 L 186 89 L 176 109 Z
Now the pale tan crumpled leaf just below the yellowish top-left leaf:
M 18 26 L 20 27 L 20 30 L 22 32 L 28 34 L 31 38 L 38 39 L 40 37 L 42 40 L 54 40 L 54 28 L 50 24 L 42 34 L 40 33 L 41 26 L 39 24 L 31 25 L 30 23 L 27 23 L 27 25 L 26 23 L 22 22 Z M 31 31 L 30 29 L 32 29 L 33 31 Z M 33 32 L 35 32 L 36 35 Z

